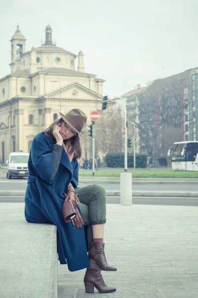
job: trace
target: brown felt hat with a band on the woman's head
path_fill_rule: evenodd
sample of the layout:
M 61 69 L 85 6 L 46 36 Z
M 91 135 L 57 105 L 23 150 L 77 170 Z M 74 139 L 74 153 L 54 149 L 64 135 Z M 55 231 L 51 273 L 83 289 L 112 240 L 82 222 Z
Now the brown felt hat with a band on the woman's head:
M 59 113 L 61 118 L 81 137 L 80 132 L 87 122 L 87 116 L 80 109 L 73 109 L 69 111 L 67 114 L 63 115 Z

